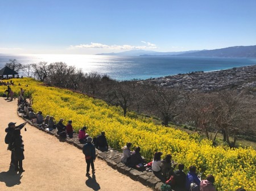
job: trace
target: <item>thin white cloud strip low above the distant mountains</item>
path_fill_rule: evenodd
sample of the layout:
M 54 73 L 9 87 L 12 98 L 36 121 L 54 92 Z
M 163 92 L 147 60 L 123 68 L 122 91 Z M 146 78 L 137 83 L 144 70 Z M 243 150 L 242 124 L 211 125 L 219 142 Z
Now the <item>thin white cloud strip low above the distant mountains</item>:
M 71 45 L 69 49 L 115 49 L 115 50 L 138 50 L 138 49 L 155 49 L 158 48 L 155 44 L 141 41 L 143 46 L 133 46 L 133 45 L 105 45 L 101 43 L 90 43 L 90 44 L 80 44 L 80 45 Z

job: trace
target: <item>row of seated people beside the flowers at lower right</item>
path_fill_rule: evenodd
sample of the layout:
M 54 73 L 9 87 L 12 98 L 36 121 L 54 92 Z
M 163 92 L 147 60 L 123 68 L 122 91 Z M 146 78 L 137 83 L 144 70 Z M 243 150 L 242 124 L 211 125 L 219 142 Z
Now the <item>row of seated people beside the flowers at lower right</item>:
M 164 159 L 161 159 L 163 153 L 155 152 L 154 158 L 151 162 L 146 161 L 141 156 L 141 148 L 135 147 L 134 151 L 131 151 L 132 143 L 126 143 L 126 146 L 122 147 L 121 162 L 130 167 L 137 168 L 138 170 L 152 171 L 156 176 L 162 177 L 162 180 L 170 185 L 170 189 L 175 190 L 187 190 L 187 191 L 216 191 L 213 183 L 215 181 L 213 175 L 208 175 L 205 180 L 201 180 L 200 175 L 196 173 L 196 167 L 191 165 L 189 172 L 185 174 L 184 164 L 176 163 L 172 160 L 172 155 L 167 154 Z M 177 169 L 175 170 L 177 166 Z M 245 189 L 237 189 L 236 191 L 245 191 Z

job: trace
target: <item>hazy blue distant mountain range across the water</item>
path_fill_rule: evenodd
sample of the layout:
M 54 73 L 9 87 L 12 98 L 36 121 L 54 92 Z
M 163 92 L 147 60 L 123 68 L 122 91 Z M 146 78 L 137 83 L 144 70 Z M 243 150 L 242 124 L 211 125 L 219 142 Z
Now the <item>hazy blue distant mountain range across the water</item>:
M 191 50 L 185 52 L 156 52 L 151 50 L 130 50 L 119 53 L 103 53 L 97 55 L 117 56 L 186 56 L 186 57 L 246 57 L 256 58 L 256 45 L 232 46 L 214 50 Z

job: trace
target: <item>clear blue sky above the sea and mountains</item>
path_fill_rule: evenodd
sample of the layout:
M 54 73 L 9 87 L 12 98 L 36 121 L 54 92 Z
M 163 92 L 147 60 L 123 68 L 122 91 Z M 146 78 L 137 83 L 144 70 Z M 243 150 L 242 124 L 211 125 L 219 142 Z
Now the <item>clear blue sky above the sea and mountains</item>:
M 256 45 L 255 0 L 1 0 L 0 10 L 5 54 Z

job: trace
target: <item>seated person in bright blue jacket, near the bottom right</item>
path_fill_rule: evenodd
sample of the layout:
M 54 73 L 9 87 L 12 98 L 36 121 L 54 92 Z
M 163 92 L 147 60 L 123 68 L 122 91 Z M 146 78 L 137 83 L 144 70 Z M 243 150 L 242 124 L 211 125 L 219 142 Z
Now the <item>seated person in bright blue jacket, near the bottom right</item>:
M 199 191 L 201 180 L 196 174 L 196 167 L 190 166 L 186 177 L 186 188 L 189 191 Z

